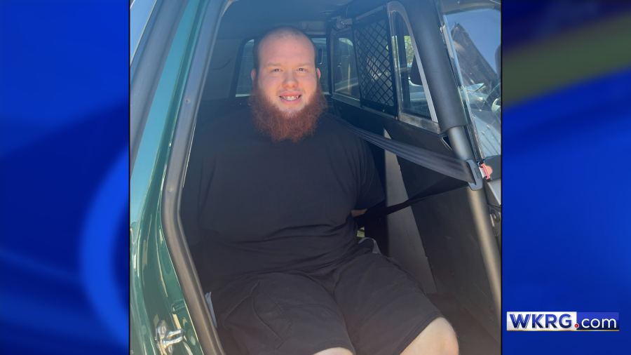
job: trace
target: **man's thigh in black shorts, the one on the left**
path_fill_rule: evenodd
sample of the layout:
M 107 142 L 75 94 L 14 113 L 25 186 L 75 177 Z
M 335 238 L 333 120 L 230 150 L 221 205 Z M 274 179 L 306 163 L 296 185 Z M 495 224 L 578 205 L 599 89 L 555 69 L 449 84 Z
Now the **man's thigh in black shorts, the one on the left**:
M 309 277 L 252 275 L 212 290 L 211 297 L 226 354 L 353 354 L 339 307 Z

